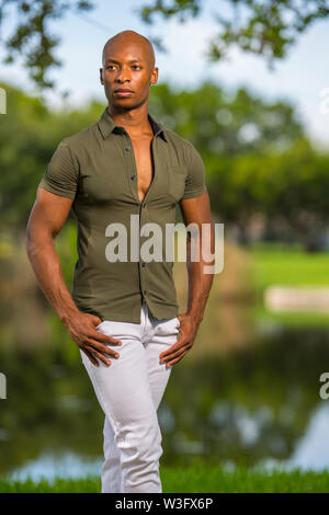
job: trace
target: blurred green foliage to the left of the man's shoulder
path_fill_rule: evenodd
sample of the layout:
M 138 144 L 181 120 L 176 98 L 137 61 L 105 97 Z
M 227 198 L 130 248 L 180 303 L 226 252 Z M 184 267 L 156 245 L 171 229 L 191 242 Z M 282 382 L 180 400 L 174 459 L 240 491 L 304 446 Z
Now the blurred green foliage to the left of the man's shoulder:
M 35 199 L 37 183 L 59 141 L 98 119 L 101 103 L 84 111 L 50 112 L 45 102 L 1 83 L 7 115 L 0 117 L 0 191 L 2 227 L 22 227 Z

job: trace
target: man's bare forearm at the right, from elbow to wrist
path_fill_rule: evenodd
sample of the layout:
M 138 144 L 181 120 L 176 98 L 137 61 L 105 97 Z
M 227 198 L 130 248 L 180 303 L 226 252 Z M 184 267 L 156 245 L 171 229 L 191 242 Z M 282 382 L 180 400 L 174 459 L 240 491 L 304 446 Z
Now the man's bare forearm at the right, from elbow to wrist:
M 192 237 L 193 238 L 193 237 Z M 204 238 L 202 236 L 202 238 Z M 204 266 L 209 266 L 208 262 L 203 261 L 202 238 L 200 238 L 200 260 L 191 261 L 191 238 L 186 241 L 188 274 L 189 274 L 189 299 L 188 312 L 198 322 L 202 321 L 208 295 L 212 288 L 214 274 L 205 274 Z M 211 230 L 211 252 L 214 253 L 214 228 Z M 205 242 L 205 241 L 204 241 Z

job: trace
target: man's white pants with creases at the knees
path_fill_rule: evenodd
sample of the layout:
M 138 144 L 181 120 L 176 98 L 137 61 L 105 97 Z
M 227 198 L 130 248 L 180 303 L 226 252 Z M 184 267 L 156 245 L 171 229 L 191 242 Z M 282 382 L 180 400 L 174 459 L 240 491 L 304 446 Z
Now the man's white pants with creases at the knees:
M 177 342 L 177 317 L 156 320 L 143 300 L 140 324 L 105 320 L 97 330 L 114 336 L 122 345 L 105 345 L 111 365 L 99 359 L 94 366 L 80 350 L 82 363 L 105 414 L 102 493 L 161 493 L 159 458 L 161 431 L 157 410 L 171 368 L 160 364 L 159 354 Z

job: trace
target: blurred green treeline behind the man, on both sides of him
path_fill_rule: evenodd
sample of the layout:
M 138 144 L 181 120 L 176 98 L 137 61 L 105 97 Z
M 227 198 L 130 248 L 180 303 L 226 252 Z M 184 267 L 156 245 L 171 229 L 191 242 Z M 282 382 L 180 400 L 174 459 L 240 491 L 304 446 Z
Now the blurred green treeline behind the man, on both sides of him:
M 0 230 L 24 230 L 57 145 L 97 122 L 105 103 L 55 112 L 42 99 L 0 85 L 8 93 L 8 114 L 0 117 Z M 149 112 L 202 154 L 214 215 L 243 233 L 261 213 L 275 238 L 314 244 L 328 222 L 329 156 L 311 147 L 293 105 L 265 102 L 247 89 L 228 94 L 213 82 L 193 91 L 160 83 Z

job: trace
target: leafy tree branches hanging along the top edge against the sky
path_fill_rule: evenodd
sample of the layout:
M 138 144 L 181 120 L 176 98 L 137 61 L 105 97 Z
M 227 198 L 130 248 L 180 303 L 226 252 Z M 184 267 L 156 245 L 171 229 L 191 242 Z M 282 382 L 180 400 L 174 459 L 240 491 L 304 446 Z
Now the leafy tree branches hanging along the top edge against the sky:
M 166 5 L 164 5 L 166 3 Z M 137 13 L 151 25 L 158 14 L 164 20 L 177 18 L 184 23 L 201 13 L 206 0 L 151 0 Z M 30 77 L 39 89 L 53 88 L 48 71 L 61 61 L 54 55 L 59 38 L 52 35 L 49 24 L 64 18 L 68 11 L 77 15 L 90 11 L 93 0 L 0 0 L 0 30 L 5 15 L 13 8 L 16 23 L 12 34 L 2 39 L 7 52 L 5 64 L 13 62 L 16 55 L 30 70 Z M 228 9 L 228 18 L 214 13 L 218 33 L 209 43 L 207 57 L 217 61 L 226 57 L 228 49 L 237 45 L 243 52 L 263 56 L 270 68 L 276 59 L 286 56 L 297 37 L 315 21 L 328 18 L 329 0 L 222 0 L 217 10 Z M 155 46 L 164 50 L 159 37 L 151 37 Z

